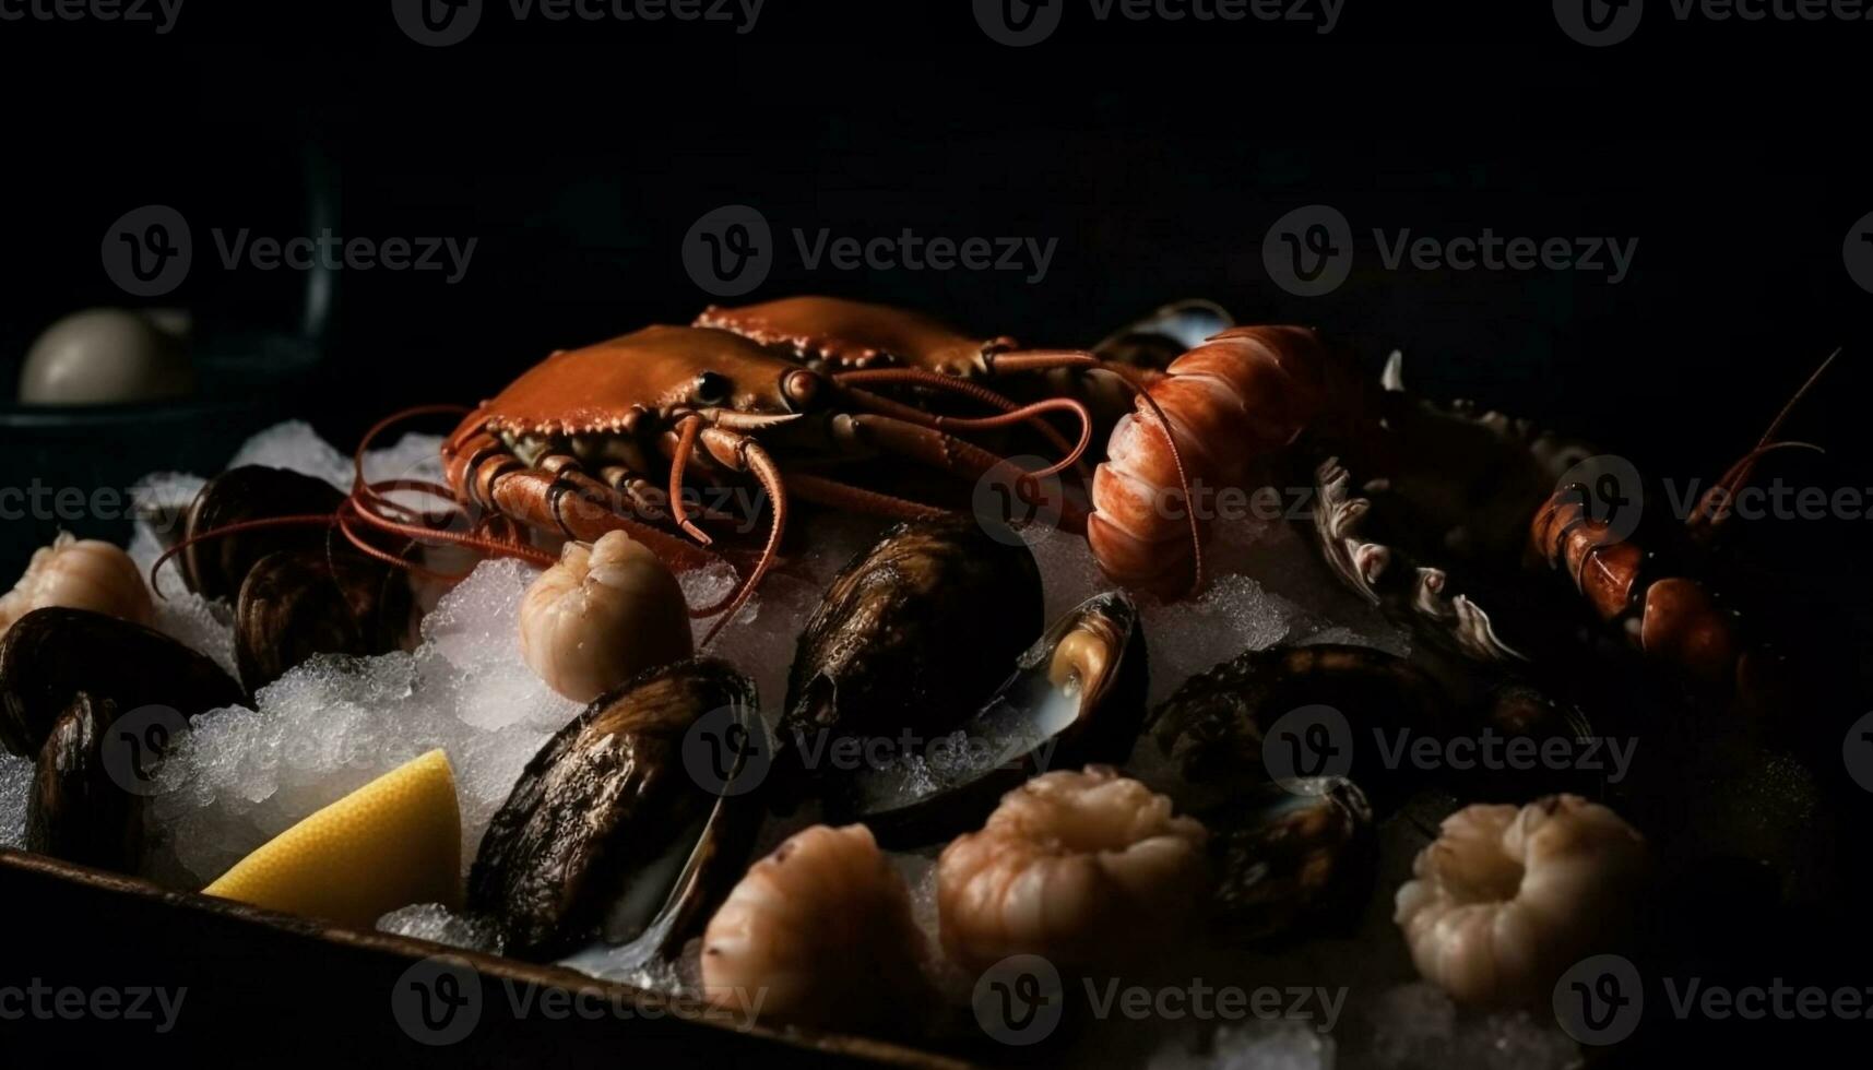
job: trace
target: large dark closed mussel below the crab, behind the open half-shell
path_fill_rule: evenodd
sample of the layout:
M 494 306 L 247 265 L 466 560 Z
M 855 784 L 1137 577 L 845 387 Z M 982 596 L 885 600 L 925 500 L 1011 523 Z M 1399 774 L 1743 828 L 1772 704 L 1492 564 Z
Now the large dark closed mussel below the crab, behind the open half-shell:
M 828 738 L 950 733 L 1043 626 L 1026 545 L 968 517 L 897 525 L 807 620 L 775 748 L 792 761 Z

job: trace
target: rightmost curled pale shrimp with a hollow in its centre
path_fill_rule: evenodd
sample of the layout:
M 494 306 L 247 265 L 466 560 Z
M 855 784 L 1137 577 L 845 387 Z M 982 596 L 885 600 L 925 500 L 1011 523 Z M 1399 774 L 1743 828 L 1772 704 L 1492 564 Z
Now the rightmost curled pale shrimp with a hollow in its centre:
M 1444 819 L 1397 892 L 1418 971 L 1463 1003 L 1538 997 L 1639 909 L 1644 840 L 1560 795 Z

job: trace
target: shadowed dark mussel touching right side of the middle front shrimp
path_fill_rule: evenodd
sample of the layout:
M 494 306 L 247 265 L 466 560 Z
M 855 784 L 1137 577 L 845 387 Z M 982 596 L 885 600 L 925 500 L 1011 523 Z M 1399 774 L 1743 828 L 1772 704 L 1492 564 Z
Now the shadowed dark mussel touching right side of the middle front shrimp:
M 1240 939 L 1349 918 L 1365 901 L 1373 808 L 1347 778 L 1264 783 L 1193 817 L 1210 830 L 1217 911 Z

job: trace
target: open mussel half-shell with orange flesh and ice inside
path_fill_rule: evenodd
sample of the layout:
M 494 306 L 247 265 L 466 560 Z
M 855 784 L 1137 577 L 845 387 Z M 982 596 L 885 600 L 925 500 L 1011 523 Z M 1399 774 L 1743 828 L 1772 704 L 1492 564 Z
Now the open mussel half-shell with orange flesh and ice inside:
M 854 770 L 826 804 L 890 847 L 976 828 L 1038 772 L 1124 761 L 1144 723 L 1146 684 L 1137 605 L 1120 592 L 1098 594 L 1028 646 L 955 733 L 888 766 Z

